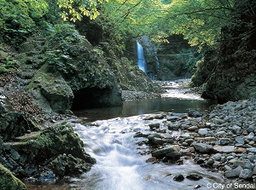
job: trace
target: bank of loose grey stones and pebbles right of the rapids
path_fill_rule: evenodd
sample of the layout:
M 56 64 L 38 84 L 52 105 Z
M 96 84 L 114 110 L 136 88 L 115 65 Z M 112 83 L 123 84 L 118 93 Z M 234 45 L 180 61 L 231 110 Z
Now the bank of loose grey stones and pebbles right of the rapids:
M 184 159 L 192 158 L 195 164 L 222 172 L 226 178 L 255 182 L 255 99 L 229 101 L 205 114 L 159 113 L 143 120 L 148 121 L 150 132 L 140 131 L 134 137 L 144 138 L 138 145 L 141 154 L 152 156 L 146 162 L 183 164 Z M 149 150 L 143 151 L 143 145 Z M 183 177 L 174 177 L 180 179 Z

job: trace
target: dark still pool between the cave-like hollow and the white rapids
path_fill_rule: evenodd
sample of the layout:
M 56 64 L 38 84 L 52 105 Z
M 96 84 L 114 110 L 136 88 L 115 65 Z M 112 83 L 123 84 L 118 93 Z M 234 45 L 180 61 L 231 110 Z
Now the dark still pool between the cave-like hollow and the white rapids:
M 213 103 L 203 99 L 178 99 L 161 97 L 140 101 L 125 101 L 121 107 L 102 107 L 74 111 L 79 118 L 88 118 L 89 121 L 108 118 L 130 117 L 154 112 L 188 112 L 189 109 L 207 110 Z

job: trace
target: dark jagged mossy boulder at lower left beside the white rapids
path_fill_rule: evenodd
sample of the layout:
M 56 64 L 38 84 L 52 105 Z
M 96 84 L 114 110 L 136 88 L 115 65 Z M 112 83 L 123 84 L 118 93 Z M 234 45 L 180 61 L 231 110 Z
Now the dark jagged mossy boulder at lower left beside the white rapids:
M 73 127 L 61 123 L 32 138 L 3 143 L 0 162 L 19 178 L 42 180 L 81 174 L 96 160 L 85 153 L 84 143 Z

